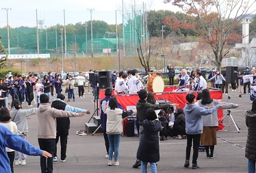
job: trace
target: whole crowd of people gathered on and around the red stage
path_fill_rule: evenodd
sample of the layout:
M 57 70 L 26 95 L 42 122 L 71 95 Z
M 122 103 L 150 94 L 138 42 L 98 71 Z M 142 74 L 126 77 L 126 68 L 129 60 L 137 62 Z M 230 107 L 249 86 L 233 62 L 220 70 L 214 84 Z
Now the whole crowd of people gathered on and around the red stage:
M 170 65 L 170 71 L 173 66 Z M 173 71 L 172 71 L 173 72 Z M 173 84 L 173 73 L 170 72 L 170 84 Z M 175 73 L 174 73 L 175 74 Z M 249 78 L 251 87 L 255 86 L 255 69 L 251 69 L 251 74 L 238 73 L 238 86 L 244 86 L 244 80 Z M 6 78 L 10 80 L 6 80 Z M 36 74 L 29 74 L 27 78 L 20 75 L 8 74 L 3 80 L 0 80 L 1 87 L 1 108 L 0 109 L 0 170 L 3 172 L 14 172 L 13 164 L 25 165 L 27 155 L 40 155 L 41 172 L 53 172 L 53 162 L 57 161 L 57 143 L 60 138 L 61 154 L 60 161 L 66 161 L 66 146 L 68 140 L 68 130 L 70 128 L 69 117 L 84 116 L 90 114 L 90 110 L 83 110 L 69 106 L 65 103 L 65 96 L 62 92 L 62 85 L 68 90 L 68 100 L 75 101 L 74 78 L 67 76 L 66 80 L 62 80 L 61 76 L 53 77 L 51 72 L 49 76 L 44 76 L 42 82 L 37 78 Z M 15 78 L 15 80 L 14 80 Z M 138 77 L 138 70 L 133 69 L 125 72 L 114 73 L 112 82 L 114 84 L 114 93 L 118 94 L 138 94 L 139 100 L 136 104 L 136 119 L 138 122 L 139 145 L 136 154 L 136 163 L 133 168 L 141 166 L 141 172 L 147 172 L 147 164 L 150 163 L 151 172 L 157 172 L 157 161 L 159 161 L 159 136 L 168 138 L 168 133 L 164 130 L 175 131 L 177 138 L 185 136 L 187 146 L 185 149 L 184 167 L 190 166 L 190 153 L 193 146 L 192 169 L 198 169 L 199 164 L 197 158 L 199 155 L 199 146 L 205 146 L 207 159 L 214 158 L 214 146 L 217 144 L 216 127 L 218 126 L 218 109 L 238 108 L 239 104 L 231 104 L 222 102 L 222 100 L 212 99 L 207 89 L 207 83 L 203 78 L 200 69 L 194 69 L 194 72 L 188 74 L 185 69 L 181 70 L 181 74 L 177 77 L 179 80 L 179 89 L 177 91 L 201 91 L 196 97 L 194 93 L 186 95 L 185 108 L 178 108 L 175 112 L 175 119 L 172 124 L 169 123 L 170 117 L 166 116 L 165 109 L 178 106 L 175 103 L 158 104 L 152 93 L 148 93 Z M 79 97 L 84 97 L 84 82 L 86 78 L 82 73 L 77 76 Z M 214 87 L 222 88 L 225 83 L 225 71 L 212 73 L 209 80 L 214 80 Z M 255 81 L 254 81 L 255 80 Z M 52 82 L 51 82 L 52 81 Z M 24 89 L 23 89 L 24 86 Z M 35 86 L 35 88 L 33 88 Z M 51 101 L 52 87 L 55 87 L 57 99 Z M 250 86 L 249 86 L 250 87 Z M 240 87 L 240 96 L 242 94 Z M 224 88 L 223 88 L 224 90 Z M 235 88 L 233 88 L 235 91 Z M 253 89 L 249 90 L 251 93 Z M 27 98 L 28 106 L 34 99 L 36 92 L 36 103 L 38 108 L 23 109 L 22 104 Z M 3 95 L 3 93 L 7 93 Z M 118 103 L 115 96 L 112 96 L 113 90 L 108 87 L 105 89 L 105 98 L 101 99 L 101 127 L 103 129 L 103 137 L 105 140 L 105 148 L 107 155 L 105 156 L 108 166 L 118 166 L 120 137 L 123 133 L 123 119 L 133 114 L 133 110 L 127 110 Z M 224 93 L 224 92 L 223 92 Z M 12 95 L 12 110 L 9 111 L 8 102 L 5 99 Z M 253 95 L 254 96 L 254 95 Z M 256 151 L 254 146 L 255 138 L 255 114 L 256 99 L 251 95 L 253 105 L 251 110 L 246 111 L 246 125 L 248 127 L 248 140 L 246 144 L 246 158 L 248 158 L 248 171 L 254 170 L 256 155 L 252 154 Z M 255 96 L 256 97 L 256 96 Z M 51 104 L 50 104 L 51 102 Z M 161 110 L 161 111 L 156 111 Z M 31 146 L 27 142 L 28 123 L 27 116 L 36 114 L 38 118 L 38 144 L 40 149 Z M 167 121 L 167 123 L 166 123 Z M 4 125 L 5 127 L 3 127 Z M 7 137 L 6 137 L 7 136 Z M 181 139 L 181 138 L 179 138 Z M 24 148 L 19 146 L 17 142 L 23 144 Z M 4 149 L 6 147 L 6 149 Z M 15 150 L 15 151 L 14 151 Z M 21 153 L 19 153 L 21 152 Z M 113 158 L 114 154 L 114 158 Z M 114 162 L 113 162 L 114 159 Z

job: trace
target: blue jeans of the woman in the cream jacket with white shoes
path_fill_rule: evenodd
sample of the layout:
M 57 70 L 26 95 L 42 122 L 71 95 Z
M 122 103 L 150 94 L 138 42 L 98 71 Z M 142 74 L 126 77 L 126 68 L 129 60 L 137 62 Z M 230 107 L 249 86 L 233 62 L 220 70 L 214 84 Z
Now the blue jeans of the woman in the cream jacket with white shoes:
M 107 134 L 108 140 L 110 141 L 110 149 L 108 151 L 108 159 L 112 160 L 113 157 L 113 151 L 114 151 L 114 161 L 118 161 L 118 154 L 119 154 L 119 143 L 121 135 L 112 135 Z

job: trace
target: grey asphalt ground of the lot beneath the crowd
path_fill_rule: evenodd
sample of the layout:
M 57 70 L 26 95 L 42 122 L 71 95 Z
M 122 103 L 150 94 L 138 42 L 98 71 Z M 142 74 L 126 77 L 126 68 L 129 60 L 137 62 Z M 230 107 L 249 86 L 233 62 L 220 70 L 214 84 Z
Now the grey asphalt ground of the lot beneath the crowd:
M 87 90 L 87 89 L 86 89 Z M 76 92 L 75 92 L 76 93 Z M 247 172 L 247 159 L 244 157 L 244 147 L 246 145 L 247 127 L 245 125 L 244 110 L 251 109 L 249 95 L 238 97 L 238 91 L 229 93 L 230 102 L 242 104 L 237 109 L 231 110 L 235 121 L 241 128 L 240 133 L 234 125 L 229 127 L 229 117 L 224 121 L 226 127 L 223 131 L 217 131 L 218 145 L 215 148 L 214 159 L 206 159 L 205 152 L 199 152 L 197 170 L 192 170 L 192 163 L 189 168 L 184 168 L 186 140 L 177 140 L 169 137 L 169 140 L 160 141 L 160 161 L 157 163 L 158 172 Z M 75 95 L 77 98 L 77 94 Z M 52 100 L 55 97 L 52 97 Z M 227 100 L 227 95 L 223 95 L 223 101 Z M 85 98 L 77 98 L 75 102 L 66 102 L 71 106 L 84 108 L 94 112 L 94 101 L 92 95 L 86 93 Z M 35 106 L 34 106 L 35 107 Z M 27 104 L 23 108 L 28 108 Z M 227 110 L 224 110 L 227 113 Z M 60 142 L 58 144 L 57 155 L 59 160 L 53 163 L 53 172 L 140 172 L 140 169 L 132 168 L 136 161 L 136 152 L 138 149 L 138 137 L 123 136 L 120 142 L 119 162 L 120 166 L 107 166 L 105 159 L 106 151 L 103 135 L 77 136 L 75 134 L 79 129 L 85 129 L 85 123 L 88 122 L 92 114 L 84 117 L 71 118 L 71 129 L 68 136 L 68 148 L 66 162 L 60 162 Z M 231 122 L 231 121 L 230 121 Z M 29 124 L 29 142 L 38 147 L 36 138 L 37 117 L 30 116 Z M 14 166 L 16 173 L 34 173 L 40 172 L 40 157 L 27 157 L 25 166 Z M 192 156 L 190 157 L 192 161 Z M 150 170 L 149 170 L 150 172 Z

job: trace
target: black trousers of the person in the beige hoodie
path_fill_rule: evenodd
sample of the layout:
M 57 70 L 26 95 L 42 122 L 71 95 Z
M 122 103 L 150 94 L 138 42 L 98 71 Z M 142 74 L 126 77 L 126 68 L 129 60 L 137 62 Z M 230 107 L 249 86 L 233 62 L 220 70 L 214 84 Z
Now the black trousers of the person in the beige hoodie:
M 40 149 L 43 151 L 47 151 L 53 155 L 55 150 L 55 142 L 56 139 L 41 139 L 38 138 L 38 144 Z M 40 166 L 41 172 L 52 173 L 53 172 L 53 157 L 45 158 L 43 156 L 40 157 Z

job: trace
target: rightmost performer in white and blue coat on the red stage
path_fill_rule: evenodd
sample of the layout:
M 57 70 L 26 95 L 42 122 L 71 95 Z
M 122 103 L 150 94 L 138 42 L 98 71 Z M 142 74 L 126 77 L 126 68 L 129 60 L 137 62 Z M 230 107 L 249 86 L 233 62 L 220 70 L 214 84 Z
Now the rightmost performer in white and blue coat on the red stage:
M 207 82 L 205 78 L 203 78 L 200 69 L 196 69 L 194 73 L 196 77 L 191 80 L 192 82 L 192 91 L 202 91 L 207 88 Z

